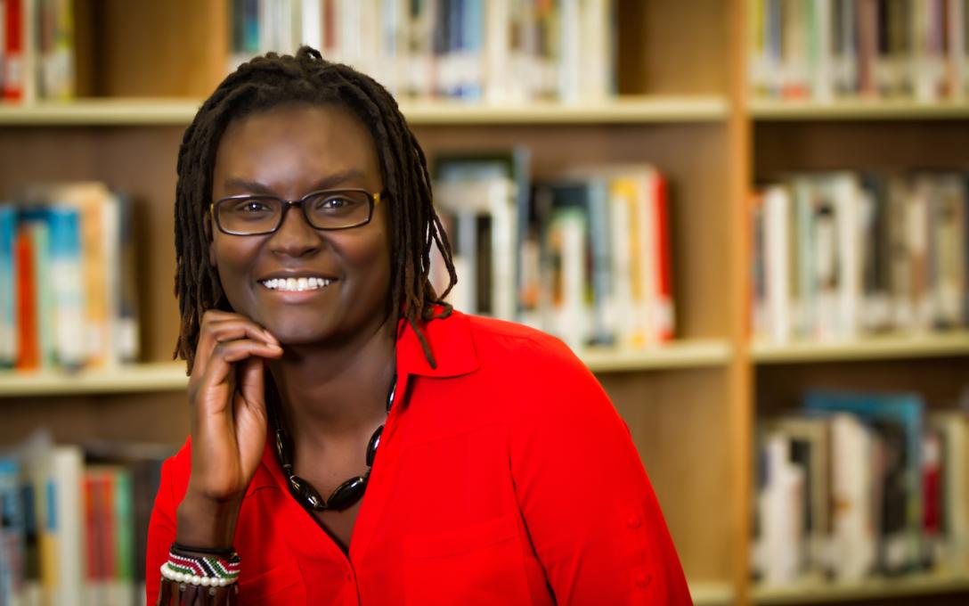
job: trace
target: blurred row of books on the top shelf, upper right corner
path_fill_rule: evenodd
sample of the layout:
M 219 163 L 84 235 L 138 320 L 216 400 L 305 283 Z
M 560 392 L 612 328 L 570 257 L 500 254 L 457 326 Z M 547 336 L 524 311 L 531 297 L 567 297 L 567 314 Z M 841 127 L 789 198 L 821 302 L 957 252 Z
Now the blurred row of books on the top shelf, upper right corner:
M 965 0 L 750 0 L 754 94 L 963 99 L 967 10 Z

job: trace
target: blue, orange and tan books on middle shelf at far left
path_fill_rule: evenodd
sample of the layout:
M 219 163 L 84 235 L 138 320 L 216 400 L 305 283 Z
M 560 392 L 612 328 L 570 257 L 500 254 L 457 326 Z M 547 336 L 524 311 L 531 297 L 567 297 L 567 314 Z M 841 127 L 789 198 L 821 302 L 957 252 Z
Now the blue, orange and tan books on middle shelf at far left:
M 139 355 L 132 204 L 100 182 L 0 203 L 0 367 L 107 367 Z

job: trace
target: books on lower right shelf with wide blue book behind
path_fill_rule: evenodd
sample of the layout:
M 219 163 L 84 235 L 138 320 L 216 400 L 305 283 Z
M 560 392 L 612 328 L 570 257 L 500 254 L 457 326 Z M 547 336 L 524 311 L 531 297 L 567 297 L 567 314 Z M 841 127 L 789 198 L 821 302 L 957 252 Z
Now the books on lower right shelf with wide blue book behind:
M 916 394 L 815 392 L 758 434 L 767 585 L 969 574 L 969 398 L 927 413 Z

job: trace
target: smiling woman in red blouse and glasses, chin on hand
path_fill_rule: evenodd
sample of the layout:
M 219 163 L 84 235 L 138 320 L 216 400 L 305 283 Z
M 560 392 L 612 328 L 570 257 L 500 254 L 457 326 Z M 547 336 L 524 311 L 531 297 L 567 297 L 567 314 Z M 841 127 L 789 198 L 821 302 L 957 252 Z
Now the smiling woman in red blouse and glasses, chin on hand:
M 149 604 L 690 603 L 594 377 L 431 287 L 450 247 L 383 87 L 310 48 L 242 65 L 185 133 L 175 216 L 192 435 Z

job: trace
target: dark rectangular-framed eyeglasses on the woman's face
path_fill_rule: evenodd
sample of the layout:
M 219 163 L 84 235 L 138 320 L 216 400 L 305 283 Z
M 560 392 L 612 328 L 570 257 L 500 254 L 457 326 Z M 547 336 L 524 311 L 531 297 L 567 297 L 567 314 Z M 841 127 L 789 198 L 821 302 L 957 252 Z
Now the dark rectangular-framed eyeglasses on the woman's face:
M 283 224 L 290 207 L 300 207 L 306 222 L 318 230 L 346 230 L 366 225 L 383 192 L 365 189 L 313 191 L 299 200 L 274 196 L 229 196 L 211 204 L 209 211 L 219 231 L 230 236 L 264 236 Z

